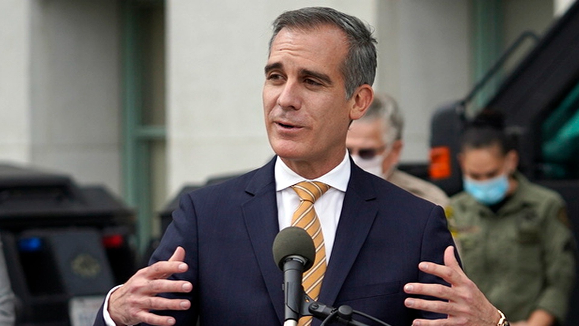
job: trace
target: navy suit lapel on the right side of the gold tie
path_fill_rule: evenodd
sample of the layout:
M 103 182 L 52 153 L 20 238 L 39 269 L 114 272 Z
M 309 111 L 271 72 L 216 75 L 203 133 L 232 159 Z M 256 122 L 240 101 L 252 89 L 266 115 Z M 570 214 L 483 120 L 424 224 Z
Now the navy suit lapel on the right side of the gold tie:
M 351 161 L 351 176 L 319 301 L 334 305 L 378 213 L 371 178 Z

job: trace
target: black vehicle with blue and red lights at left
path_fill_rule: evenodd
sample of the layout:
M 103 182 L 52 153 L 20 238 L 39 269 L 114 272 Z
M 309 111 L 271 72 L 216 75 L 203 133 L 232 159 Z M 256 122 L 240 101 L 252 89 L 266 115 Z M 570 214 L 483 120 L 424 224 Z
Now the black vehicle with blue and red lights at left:
M 16 325 L 92 325 L 135 271 L 134 212 L 101 186 L 0 165 L 0 231 Z

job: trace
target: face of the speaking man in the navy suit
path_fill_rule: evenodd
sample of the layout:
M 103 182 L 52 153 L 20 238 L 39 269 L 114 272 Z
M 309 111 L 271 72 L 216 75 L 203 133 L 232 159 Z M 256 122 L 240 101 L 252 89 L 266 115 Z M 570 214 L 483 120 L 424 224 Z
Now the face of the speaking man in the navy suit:
M 350 120 L 367 107 L 358 108 L 358 91 L 346 99 L 339 69 L 346 53 L 345 35 L 329 26 L 283 28 L 272 43 L 263 85 L 267 135 L 276 154 L 298 173 L 298 166 L 331 169 L 342 161 Z

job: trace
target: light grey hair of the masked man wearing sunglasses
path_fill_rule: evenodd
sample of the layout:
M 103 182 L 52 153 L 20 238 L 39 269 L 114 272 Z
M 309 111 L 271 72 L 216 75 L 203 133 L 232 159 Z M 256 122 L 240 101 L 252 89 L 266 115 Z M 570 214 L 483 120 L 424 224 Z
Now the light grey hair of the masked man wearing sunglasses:
M 391 96 L 375 96 L 372 104 L 362 117 L 361 121 L 375 121 L 381 119 L 384 126 L 384 143 L 391 146 L 396 140 L 402 139 L 404 117 L 398 108 L 398 103 Z

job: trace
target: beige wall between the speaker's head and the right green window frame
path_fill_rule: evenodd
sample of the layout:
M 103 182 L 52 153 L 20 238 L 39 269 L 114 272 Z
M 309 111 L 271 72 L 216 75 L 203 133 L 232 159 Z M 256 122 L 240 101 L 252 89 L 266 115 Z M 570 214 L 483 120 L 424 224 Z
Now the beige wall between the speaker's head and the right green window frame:
M 401 161 L 427 162 L 434 111 L 470 89 L 470 12 L 464 0 L 379 1 L 378 92 L 405 117 Z

